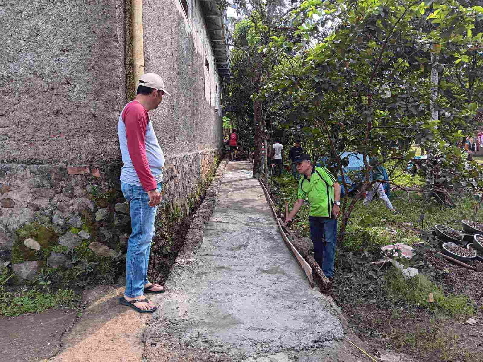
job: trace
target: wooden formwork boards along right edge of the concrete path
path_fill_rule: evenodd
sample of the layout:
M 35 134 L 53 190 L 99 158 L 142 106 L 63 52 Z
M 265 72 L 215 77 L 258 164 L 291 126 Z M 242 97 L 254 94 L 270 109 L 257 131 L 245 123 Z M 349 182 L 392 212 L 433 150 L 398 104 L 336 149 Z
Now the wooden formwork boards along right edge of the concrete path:
M 289 238 L 284 233 L 284 229 L 283 229 L 283 226 L 282 226 L 283 221 L 277 217 L 277 213 L 275 211 L 275 204 L 273 203 L 268 190 L 266 189 L 264 183 L 261 180 L 259 180 L 259 182 L 260 182 L 260 185 L 263 189 L 265 197 L 266 197 L 267 201 L 269 202 L 270 209 L 272 211 L 273 217 L 275 219 L 275 222 L 277 223 L 280 235 L 282 236 L 282 239 L 284 240 L 285 245 L 287 246 L 287 249 L 292 253 L 292 255 L 297 260 L 298 265 L 300 265 L 300 267 L 302 268 L 304 273 L 307 275 L 307 278 L 309 279 L 309 283 L 311 284 L 312 288 L 314 287 L 314 280 L 315 280 L 315 282 L 317 283 L 317 285 L 319 287 L 319 291 L 323 295 L 324 299 L 326 299 L 327 302 L 329 302 L 329 304 L 332 306 L 332 308 L 334 308 L 334 310 L 337 312 L 339 317 L 341 317 L 341 320 L 343 321 L 343 323 L 347 327 L 348 323 L 347 323 L 347 320 L 345 319 L 345 317 L 342 314 L 341 308 L 339 308 L 337 306 L 334 299 L 330 295 L 325 293 L 327 291 L 327 288 L 325 287 L 324 284 L 326 284 L 325 281 L 326 281 L 327 277 L 324 275 L 324 273 L 322 272 L 322 269 L 317 264 L 317 262 L 315 262 L 312 255 L 310 255 L 310 254 L 307 255 L 308 260 L 305 260 L 302 257 L 302 255 L 300 255 L 300 252 L 297 250 L 297 248 L 290 242 Z

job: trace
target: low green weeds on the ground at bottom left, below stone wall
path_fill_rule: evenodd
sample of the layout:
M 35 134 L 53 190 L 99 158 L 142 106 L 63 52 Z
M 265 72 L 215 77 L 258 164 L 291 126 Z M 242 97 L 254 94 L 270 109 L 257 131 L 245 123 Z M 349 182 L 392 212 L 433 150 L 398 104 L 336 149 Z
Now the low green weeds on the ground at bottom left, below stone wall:
M 40 313 L 60 306 L 75 306 L 79 296 L 71 289 L 41 292 L 37 288 L 7 292 L 0 286 L 0 316 L 17 317 L 25 313 Z

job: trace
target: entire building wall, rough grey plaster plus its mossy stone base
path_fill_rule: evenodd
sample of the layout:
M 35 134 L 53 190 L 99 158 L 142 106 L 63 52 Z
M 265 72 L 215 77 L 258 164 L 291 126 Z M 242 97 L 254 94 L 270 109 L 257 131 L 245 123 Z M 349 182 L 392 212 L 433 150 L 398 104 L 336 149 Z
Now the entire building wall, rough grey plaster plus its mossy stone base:
M 145 71 L 173 95 L 150 119 L 167 156 L 167 198 L 185 212 L 222 142 L 215 58 L 200 3 L 188 2 L 188 18 L 179 0 L 143 3 Z M 55 256 L 49 243 L 64 240 L 123 251 L 117 119 L 133 88 L 130 1 L 11 2 L 0 23 L 0 259 L 42 256 L 40 268 Z M 23 244 L 39 228 L 54 235 L 41 256 Z M 90 239 L 76 237 L 79 228 Z

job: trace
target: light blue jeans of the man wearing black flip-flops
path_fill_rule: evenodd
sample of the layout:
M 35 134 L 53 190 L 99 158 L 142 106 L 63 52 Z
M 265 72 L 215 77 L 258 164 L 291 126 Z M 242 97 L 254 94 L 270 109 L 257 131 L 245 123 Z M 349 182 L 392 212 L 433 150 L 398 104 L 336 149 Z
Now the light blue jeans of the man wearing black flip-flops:
M 162 182 L 157 184 L 161 192 Z M 142 186 L 121 182 L 121 190 L 129 201 L 132 233 L 128 240 L 128 256 L 126 259 L 126 292 L 128 298 L 144 294 L 144 284 L 149 283 L 148 263 L 151 241 L 154 237 L 156 207 L 148 206 L 149 196 Z

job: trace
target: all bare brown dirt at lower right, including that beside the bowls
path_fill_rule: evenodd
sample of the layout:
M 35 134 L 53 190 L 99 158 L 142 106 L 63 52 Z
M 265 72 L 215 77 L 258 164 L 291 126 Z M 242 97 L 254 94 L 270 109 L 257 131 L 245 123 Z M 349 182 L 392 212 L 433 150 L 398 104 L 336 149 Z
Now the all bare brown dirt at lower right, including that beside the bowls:
M 407 306 L 384 309 L 376 303 L 342 304 L 343 314 L 355 334 L 369 343 L 370 354 L 378 357 L 384 348 L 405 353 L 418 361 L 483 361 L 483 273 L 438 257 L 438 248 L 425 252 L 419 272 L 432 278 L 446 295 L 464 294 L 474 301 L 478 323 L 468 316 L 443 317 L 423 308 Z M 473 262 L 469 264 L 475 264 Z

